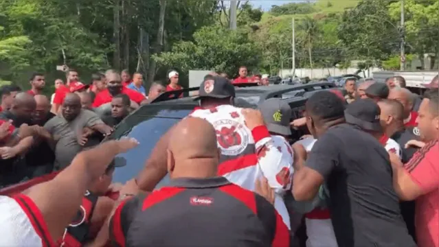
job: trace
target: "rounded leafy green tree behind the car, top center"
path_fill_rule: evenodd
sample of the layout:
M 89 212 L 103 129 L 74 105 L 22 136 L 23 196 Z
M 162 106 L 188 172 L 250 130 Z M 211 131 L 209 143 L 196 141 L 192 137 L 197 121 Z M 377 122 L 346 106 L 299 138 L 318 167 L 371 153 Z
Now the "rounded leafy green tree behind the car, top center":
M 190 69 L 206 69 L 236 75 L 241 65 L 256 68 L 259 49 L 247 30 L 227 30 L 222 27 L 202 27 L 194 33 L 194 41 L 181 41 L 154 59 L 161 66 L 179 68 L 187 74 Z

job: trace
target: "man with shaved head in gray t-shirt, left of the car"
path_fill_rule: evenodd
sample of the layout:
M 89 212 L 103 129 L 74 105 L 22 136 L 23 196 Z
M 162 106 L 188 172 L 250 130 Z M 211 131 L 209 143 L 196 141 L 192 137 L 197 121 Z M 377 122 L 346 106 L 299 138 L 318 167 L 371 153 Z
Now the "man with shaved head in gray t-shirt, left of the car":
M 85 127 L 101 132 L 102 134 L 110 134 L 111 128 L 106 126 L 104 122 L 91 110 L 81 108 L 79 95 L 76 93 L 68 93 L 65 96 L 61 114 L 50 119 L 44 128 L 52 136 L 52 148 L 55 151 L 55 169 L 63 169 L 67 167 L 74 156 L 82 150 L 82 145 L 87 139 L 79 138 L 82 136 L 82 129 Z M 81 143 L 84 142 L 84 143 Z

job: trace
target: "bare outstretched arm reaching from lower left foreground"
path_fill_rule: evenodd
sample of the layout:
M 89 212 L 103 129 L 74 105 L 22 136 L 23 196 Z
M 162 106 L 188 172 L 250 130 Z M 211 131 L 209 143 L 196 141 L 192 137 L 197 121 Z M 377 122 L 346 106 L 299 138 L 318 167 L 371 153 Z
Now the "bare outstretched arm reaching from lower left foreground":
M 113 158 L 137 146 L 135 139 L 107 141 L 80 152 L 67 168 L 53 180 L 31 187 L 27 191 L 41 211 L 52 239 L 58 239 L 71 223 L 82 203 L 87 188 L 104 174 Z M 55 198 L 55 200 L 54 200 Z

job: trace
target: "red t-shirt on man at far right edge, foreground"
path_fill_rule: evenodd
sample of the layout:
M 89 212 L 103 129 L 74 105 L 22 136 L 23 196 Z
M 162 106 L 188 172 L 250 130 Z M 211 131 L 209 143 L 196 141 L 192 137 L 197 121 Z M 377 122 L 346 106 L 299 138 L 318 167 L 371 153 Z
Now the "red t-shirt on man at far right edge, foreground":
M 418 246 L 439 246 L 439 141 L 431 141 L 404 165 L 423 191 L 416 198 L 415 226 Z

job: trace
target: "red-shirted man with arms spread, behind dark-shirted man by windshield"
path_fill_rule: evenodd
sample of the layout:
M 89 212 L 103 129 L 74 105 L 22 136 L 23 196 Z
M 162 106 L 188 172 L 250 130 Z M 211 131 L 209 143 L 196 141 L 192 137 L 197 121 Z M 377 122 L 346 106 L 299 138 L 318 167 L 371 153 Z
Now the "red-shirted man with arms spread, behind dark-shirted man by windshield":
M 109 69 L 105 72 L 106 78 L 106 89 L 98 93 L 93 101 L 93 107 L 101 106 L 102 104 L 106 104 L 111 102 L 111 99 L 120 93 L 128 95 L 128 97 L 135 103 L 142 103 L 146 97 L 133 89 L 128 89 L 126 86 L 122 85 L 122 78 L 120 78 L 120 74 L 114 71 L 113 69 Z

